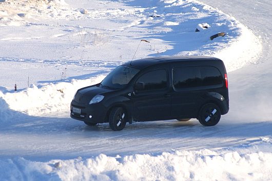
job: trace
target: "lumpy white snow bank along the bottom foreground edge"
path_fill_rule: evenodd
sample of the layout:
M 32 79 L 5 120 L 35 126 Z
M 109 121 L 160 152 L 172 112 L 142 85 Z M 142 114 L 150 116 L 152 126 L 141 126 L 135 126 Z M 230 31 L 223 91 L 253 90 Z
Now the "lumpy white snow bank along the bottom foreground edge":
M 0 160 L 1 180 L 262 180 L 270 181 L 272 153 L 210 150 L 31 162 Z M 57 166 L 57 167 L 56 167 Z M 242 168 L 242 169 L 241 169 Z

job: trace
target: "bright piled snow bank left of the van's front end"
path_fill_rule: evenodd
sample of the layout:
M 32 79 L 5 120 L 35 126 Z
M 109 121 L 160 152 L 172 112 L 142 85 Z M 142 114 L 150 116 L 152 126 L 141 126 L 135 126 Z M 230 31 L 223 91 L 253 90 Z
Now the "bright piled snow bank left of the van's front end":
M 100 83 L 105 75 L 75 80 L 71 83 L 48 84 L 41 88 L 31 85 L 23 91 L 2 93 L 11 109 L 27 113 L 28 115 L 43 115 L 48 112 L 70 110 L 70 103 L 75 92 L 90 85 Z M 26 104 L 27 103 L 27 104 Z M 1 111 L 1 110 L 0 110 Z

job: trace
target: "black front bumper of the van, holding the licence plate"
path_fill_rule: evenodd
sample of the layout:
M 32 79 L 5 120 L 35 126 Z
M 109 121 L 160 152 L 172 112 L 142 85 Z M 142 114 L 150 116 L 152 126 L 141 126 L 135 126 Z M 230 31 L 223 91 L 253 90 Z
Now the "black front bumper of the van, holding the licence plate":
M 73 108 L 79 111 L 74 112 Z M 107 116 L 107 109 L 101 104 L 82 104 L 72 100 L 70 105 L 70 116 L 73 119 L 81 120 L 87 123 L 104 123 Z

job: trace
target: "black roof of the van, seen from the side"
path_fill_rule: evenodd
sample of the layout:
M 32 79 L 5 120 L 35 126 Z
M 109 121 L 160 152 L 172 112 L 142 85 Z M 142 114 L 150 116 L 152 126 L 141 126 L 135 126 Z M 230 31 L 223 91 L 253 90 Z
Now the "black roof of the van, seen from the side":
M 132 66 L 135 68 L 143 69 L 152 65 L 163 64 L 166 62 L 185 62 L 185 61 L 221 61 L 219 58 L 211 56 L 159 56 L 137 59 L 135 61 L 130 61 L 124 65 Z

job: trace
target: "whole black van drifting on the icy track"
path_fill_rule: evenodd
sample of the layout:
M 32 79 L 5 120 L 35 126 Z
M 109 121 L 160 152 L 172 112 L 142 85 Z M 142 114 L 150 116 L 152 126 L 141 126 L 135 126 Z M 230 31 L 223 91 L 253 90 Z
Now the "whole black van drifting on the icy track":
M 166 56 L 127 62 L 96 85 L 77 90 L 71 102 L 74 119 L 94 126 L 197 118 L 216 125 L 229 109 L 224 63 L 215 57 Z

